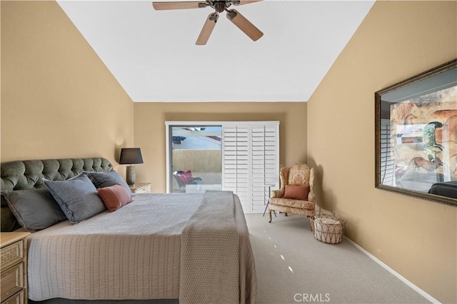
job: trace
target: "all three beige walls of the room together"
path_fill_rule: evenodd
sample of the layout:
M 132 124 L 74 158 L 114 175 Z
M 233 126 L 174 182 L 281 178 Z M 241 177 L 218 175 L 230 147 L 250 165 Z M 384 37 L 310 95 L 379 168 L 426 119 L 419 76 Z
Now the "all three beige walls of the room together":
M 1 161 L 116 163 L 134 145 L 137 181 L 164 192 L 165 121 L 278 120 L 281 164 L 316 166 L 318 203 L 348 220 L 349 238 L 456 303 L 457 208 L 375 189 L 373 155 L 373 92 L 457 57 L 456 4 L 376 3 L 307 104 L 133 105 L 58 4 L 1 1 Z

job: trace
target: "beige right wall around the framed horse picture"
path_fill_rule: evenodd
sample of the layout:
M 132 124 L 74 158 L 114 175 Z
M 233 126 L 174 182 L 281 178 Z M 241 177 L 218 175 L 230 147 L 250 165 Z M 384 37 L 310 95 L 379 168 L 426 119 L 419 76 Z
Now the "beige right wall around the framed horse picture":
M 457 303 L 457 208 L 374 188 L 374 92 L 457 57 L 456 1 L 378 1 L 308 102 L 318 204 L 347 235 Z

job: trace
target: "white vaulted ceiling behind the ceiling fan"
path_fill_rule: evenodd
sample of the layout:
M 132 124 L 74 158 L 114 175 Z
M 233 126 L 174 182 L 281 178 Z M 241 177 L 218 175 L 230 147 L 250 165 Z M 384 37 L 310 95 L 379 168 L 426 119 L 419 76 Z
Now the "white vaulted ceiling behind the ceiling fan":
M 164 1 L 164 0 L 162 0 Z M 155 11 L 152 1 L 58 1 L 133 101 L 308 101 L 374 1 L 261 1 L 236 9 L 254 42 L 211 8 Z

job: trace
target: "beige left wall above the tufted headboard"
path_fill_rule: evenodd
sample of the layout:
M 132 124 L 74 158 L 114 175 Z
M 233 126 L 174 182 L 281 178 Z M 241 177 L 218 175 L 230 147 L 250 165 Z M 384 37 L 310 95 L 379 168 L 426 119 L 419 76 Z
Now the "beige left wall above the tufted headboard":
M 1 161 L 116 165 L 134 143 L 133 118 L 131 98 L 56 2 L 1 1 Z

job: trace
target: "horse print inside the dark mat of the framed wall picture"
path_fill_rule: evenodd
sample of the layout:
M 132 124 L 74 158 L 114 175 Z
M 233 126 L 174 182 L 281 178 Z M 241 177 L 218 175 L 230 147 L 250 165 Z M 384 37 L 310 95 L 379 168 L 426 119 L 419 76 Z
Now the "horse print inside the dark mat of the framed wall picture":
M 398 117 L 393 121 L 392 136 L 400 138 L 395 145 L 396 165 L 406 166 L 405 172 L 396 177 L 396 185 L 426 191 L 433 183 L 456 181 L 457 160 L 451 156 L 457 153 L 457 110 L 443 110 L 443 103 L 406 103 L 410 103 L 408 108 L 416 119 L 407 115 L 407 120 Z M 405 107 L 406 103 L 399 103 L 398 107 Z M 457 108 L 457 101 L 450 104 Z M 394 107 L 393 114 L 396 110 Z M 424 114 L 436 120 L 427 122 Z

